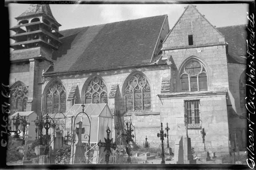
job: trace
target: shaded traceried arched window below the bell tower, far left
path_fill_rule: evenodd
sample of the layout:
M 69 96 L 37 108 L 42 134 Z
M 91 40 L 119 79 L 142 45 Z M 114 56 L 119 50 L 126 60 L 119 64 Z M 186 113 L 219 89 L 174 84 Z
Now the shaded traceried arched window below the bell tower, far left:
M 26 111 L 28 101 L 28 87 L 22 83 L 17 83 L 10 89 L 10 111 Z

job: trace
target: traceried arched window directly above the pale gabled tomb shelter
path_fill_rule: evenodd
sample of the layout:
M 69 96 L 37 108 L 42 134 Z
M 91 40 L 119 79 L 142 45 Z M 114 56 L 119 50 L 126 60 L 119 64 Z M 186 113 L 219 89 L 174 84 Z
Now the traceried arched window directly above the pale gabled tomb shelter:
M 84 103 L 108 103 L 107 87 L 99 77 L 94 77 L 89 82 L 84 93 Z

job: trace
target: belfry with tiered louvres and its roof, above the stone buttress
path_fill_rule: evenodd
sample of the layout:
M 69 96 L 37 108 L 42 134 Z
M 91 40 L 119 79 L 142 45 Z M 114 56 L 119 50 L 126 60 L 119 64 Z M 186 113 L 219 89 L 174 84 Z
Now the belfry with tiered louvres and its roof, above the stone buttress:
M 10 38 L 14 50 L 11 62 L 28 60 L 30 58 L 52 59 L 52 50 L 61 45 L 59 32 L 61 26 L 52 16 L 49 4 L 31 4 L 20 16 L 16 17 L 18 24 L 11 28 L 16 34 Z M 29 55 L 28 55 L 29 53 Z

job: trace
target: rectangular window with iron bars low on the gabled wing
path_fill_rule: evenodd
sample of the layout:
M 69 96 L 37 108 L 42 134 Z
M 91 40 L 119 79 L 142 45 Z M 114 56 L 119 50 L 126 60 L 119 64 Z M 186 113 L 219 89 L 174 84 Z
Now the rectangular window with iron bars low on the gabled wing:
M 201 124 L 200 121 L 200 102 L 199 100 L 185 100 L 185 122 L 188 126 L 198 126 Z

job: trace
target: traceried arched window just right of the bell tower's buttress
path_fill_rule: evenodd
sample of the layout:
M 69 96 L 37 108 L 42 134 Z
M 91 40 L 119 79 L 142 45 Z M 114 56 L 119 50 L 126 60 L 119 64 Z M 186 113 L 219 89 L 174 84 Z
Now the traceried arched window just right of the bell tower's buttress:
M 66 90 L 59 81 L 52 83 L 46 93 L 45 110 L 46 114 L 66 112 Z

